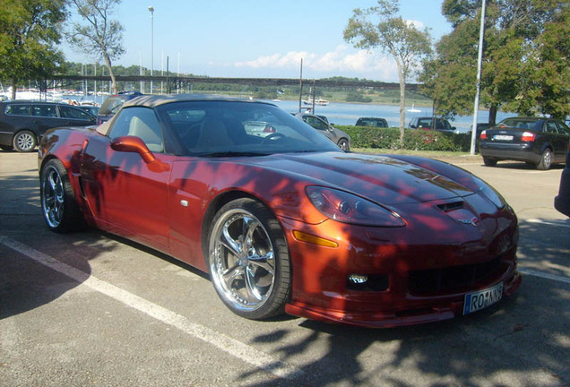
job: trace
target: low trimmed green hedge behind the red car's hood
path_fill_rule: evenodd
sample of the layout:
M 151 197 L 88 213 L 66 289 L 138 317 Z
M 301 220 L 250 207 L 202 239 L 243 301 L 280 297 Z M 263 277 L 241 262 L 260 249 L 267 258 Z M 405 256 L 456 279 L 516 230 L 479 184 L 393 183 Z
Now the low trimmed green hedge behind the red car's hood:
M 400 149 L 399 128 L 376 128 L 371 126 L 336 125 L 349 133 L 353 148 Z M 444 133 L 406 129 L 403 149 L 469 151 L 471 137 L 467 133 Z

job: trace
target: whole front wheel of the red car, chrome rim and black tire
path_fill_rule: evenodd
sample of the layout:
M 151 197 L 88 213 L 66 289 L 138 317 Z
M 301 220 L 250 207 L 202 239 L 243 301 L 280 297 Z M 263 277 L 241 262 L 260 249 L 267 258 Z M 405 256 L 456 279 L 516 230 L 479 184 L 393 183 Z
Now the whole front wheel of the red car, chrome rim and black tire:
M 284 312 L 289 249 L 278 220 L 261 202 L 225 204 L 212 220 L 207 254 L 214 288 L 233 313 L 263 320 Z

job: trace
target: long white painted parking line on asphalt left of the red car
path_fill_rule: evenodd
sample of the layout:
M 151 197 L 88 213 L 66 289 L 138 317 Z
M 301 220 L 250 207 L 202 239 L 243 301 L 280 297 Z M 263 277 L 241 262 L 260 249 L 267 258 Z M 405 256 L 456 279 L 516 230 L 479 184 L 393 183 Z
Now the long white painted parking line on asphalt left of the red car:
M 129 293 L 122 288 L 117 288 L 104 280 L 99 280 L 93 275 L 75 269 L 64 262 L 56 260 L 48 254 L 43 254 L 38 250 L 15 241 L 8 236 L 0 236 L 0 243 L 36 262 L 48 266 L 48 268 L 52 270 L 59 271 L 65 276 L 76 280 L 81 285 L 92 288 L 93 290 L 132 307 L 143 314 L 147 314 L 162 323 L 176 327 L 178 330 L 184 331 L 189 336 L 203 340 L 252 366 L 261 368 L 278 377 L 287 379 L 294 379 L 303 374 L 300 369 L 294 366 L 289 366 L 281 362 L 281 360 L 260 352 L 241 341 L 232 339 L 220 332 L 212 331 L 210 328 L 201 324 L 193 323 L 183 315 L 172 312 L 160 305 L 153 304 L 150 301 L 147 301 L 142 297 L 138 297 L 133 293 Z

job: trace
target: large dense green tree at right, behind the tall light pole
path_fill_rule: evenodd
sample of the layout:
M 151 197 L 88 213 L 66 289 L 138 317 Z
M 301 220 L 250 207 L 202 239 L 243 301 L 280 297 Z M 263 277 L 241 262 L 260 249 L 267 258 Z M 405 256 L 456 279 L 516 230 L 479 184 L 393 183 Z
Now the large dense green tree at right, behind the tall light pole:
M 570 113 L 570 7 L 564 0 L 487 0 L 481 102 L 495 124 L 502 108 L 523 115 Z M 476 93 L 481 0 L 445 0 L 453 31 L 424 63 L 423 90 L 439 114 L 471 114 Z

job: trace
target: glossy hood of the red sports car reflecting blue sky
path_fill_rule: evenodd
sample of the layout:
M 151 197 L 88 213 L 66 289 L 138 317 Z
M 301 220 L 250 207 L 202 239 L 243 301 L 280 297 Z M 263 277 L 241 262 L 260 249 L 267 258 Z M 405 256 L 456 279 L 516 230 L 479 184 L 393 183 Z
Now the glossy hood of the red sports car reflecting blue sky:
M 288 153 L 249 161 L 248 164 L 308 178 L 313 180 L 311 184 L 336 185 L 339 189 L 386 205 L 445 200 L 474 193 L 433 170 L 385 156 Z M 463 178 L 468 176 L 468 172 L 461 173 Z

